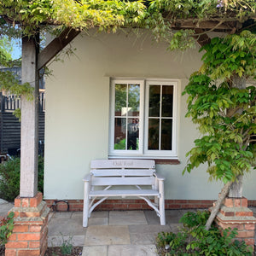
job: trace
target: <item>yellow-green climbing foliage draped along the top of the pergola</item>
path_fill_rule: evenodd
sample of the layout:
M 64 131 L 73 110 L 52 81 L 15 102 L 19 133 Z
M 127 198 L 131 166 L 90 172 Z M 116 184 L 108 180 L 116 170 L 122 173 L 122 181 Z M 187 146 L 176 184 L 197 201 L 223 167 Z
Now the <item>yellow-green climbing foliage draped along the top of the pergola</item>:
M 151 30 L 155 40 L 166 40 L 169 49 L 187 49 L 195 46 L 195 32 L 180 30 L 172 32 L 180 20 L 193 20 L 200 25 L 203 20 L 226 20 L 244 22 L 255 18 L 254 0 L 19 0 L 1 1 L 0 31 L 9 38 L 34 37 L 38 32 L 53 35 L 65 27 L 86 31 L 96 27 L 99 32 L 116 32 L 119 28 L 145 28 Z M 251 26 L 251 24 L 250 24 Z M 255 26 L 255 25 L 254 25 Z M 53 29 L 53 27 L 55 27 Z M 253 26 L 252 26 L 253 27 Z M 2 57 L 3 53 L 3 57 Z M 0 63 L 9 67 L 7 52 L 2 52 Z M 241 73 L 241 70 L 238 71 Z M 20 86 L 10 73 L 1 73 L 2 90 L 16 95 L 32 97 L 28 84 Z M 9 86 L 14 84 L 14 86 Z M 4 88 L 3 88 L 4 85 Z

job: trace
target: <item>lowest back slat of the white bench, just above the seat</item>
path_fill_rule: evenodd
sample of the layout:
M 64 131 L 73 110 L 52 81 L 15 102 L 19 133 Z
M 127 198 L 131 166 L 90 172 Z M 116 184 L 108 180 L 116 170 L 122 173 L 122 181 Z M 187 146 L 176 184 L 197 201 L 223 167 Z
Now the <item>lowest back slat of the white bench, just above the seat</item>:
M 92 186 L 153 184 L 154 177 L 91 177 Z

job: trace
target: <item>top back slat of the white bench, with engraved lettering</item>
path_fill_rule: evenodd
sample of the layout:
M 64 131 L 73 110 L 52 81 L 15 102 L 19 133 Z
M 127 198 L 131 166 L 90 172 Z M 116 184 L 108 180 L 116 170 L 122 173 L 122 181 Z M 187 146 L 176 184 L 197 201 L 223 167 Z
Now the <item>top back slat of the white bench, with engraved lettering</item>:
M 154 160 L 91 160 L 91 169 L 128 168 L 154 169 Z

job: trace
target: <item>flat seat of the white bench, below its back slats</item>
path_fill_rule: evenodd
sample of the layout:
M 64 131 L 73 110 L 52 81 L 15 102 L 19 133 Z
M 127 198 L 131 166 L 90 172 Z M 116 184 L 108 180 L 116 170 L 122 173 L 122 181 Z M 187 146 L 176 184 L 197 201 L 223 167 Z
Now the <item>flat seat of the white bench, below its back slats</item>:
M 127 190 L 94 190 L 89 196 L 150 196 L 159 195 L 155 189 L 127 189 Z

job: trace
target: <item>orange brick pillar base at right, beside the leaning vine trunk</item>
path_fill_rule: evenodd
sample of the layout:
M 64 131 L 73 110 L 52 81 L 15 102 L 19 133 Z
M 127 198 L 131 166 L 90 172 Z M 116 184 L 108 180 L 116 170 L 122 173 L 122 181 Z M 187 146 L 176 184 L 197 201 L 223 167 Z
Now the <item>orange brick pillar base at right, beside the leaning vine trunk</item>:
M 247 245 L 254 246 L 256 218 L 247 208 L 247 198 L 225 198 L 215 221 L 222 229 L 237 228 L 237 240 L 243 240 Z

